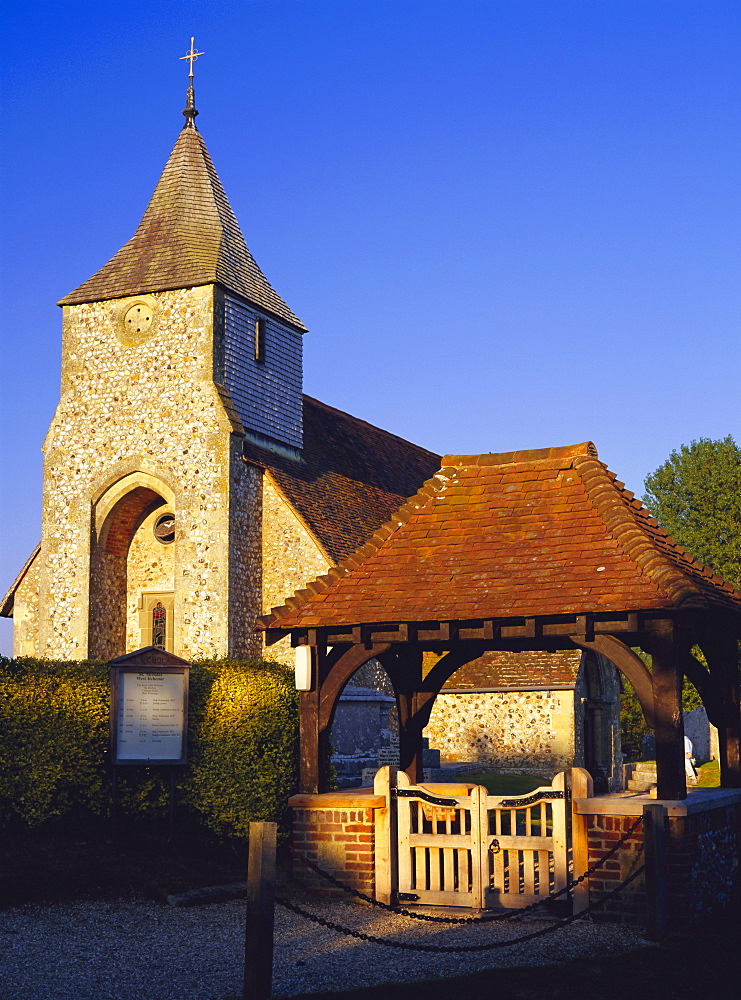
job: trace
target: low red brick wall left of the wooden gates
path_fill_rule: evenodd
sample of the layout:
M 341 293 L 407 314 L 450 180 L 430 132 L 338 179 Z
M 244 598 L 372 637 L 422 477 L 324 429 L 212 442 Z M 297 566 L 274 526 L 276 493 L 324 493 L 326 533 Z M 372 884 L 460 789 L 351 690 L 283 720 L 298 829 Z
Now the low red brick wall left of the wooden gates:
M 385 809 L 383 796 L 367 791 L 294 795 L 294 851 L 313 861 L 323 871 L 355 889 L 372 895 L 375 887 L 375 813 Z M 301 881 L 323 896 L 347 897 L 300 861 L 294 872 Z

